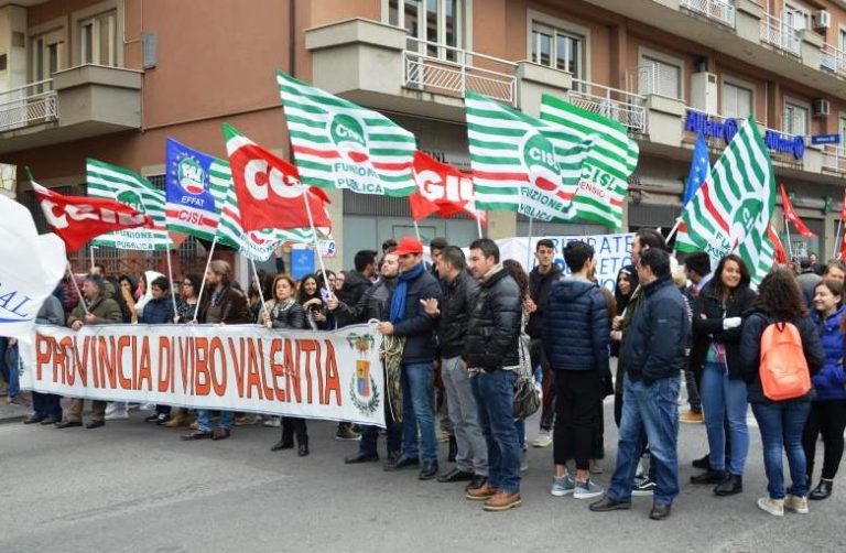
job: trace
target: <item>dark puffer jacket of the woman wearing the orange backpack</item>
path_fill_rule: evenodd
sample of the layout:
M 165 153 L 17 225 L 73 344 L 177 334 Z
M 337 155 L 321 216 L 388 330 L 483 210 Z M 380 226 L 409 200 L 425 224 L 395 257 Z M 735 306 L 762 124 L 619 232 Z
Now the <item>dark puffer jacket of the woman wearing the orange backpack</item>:
M 744 380 L 747 384 L 747 394 L 749 403 L 783 403 L 774 402 L 763 394 L 761 387 L 760 365 L 761 365 L 761 336 L 763 330 L 774 322 L 783 321 L 774 315 L 756 311 L 744 322 L 744 330 L 740 334 L 740 369 L 744 373 Z M 805 354 L 811 377 L 820 371 L 823 366 L 824 354 L 823 345 L 820 341 L 820 334 L 816 332 L 814 323 L 809 317 L 802 317 L 791 321 L 802 337 L 802 349 Z M 787 401 L 811 401 L 813 391 L 802 398 Z

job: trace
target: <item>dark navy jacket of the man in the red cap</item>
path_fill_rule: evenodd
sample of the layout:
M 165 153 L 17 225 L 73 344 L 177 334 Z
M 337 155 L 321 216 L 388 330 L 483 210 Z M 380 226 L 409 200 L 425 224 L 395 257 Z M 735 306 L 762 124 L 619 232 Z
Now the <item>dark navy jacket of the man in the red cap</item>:
M 388 312 L 391 310 L 393 294 L 388 297 Z M 409 281 L 405 295 L 405 316 L 393 325 L 393 335 L 405 338 L 402 351 L 404 364 L 432 362 L 437 353 L 435 344 L 435 319 L 426 315 L 420 304 L 421 300 L 434 299 L 441 301 L 441 284 L 431 272 L 423 271 L 420 276 Z

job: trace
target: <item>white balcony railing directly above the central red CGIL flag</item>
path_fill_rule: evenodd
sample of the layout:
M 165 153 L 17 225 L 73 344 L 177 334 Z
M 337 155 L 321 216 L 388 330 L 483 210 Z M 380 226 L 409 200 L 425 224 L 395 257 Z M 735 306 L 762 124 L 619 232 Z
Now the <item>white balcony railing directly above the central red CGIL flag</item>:
M 463 97 L 466 90 L 513 105 L 517 64 L 475 52 L 409 39 L 402 53 L 403 85 Z

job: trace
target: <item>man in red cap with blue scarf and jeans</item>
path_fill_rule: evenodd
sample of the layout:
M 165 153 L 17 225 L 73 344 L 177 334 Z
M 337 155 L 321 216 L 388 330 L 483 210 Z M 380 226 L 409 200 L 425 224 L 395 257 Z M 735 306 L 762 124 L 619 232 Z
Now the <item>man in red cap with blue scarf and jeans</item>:
M 423 300 L 440 300 L 441 285 L 425 270 L 423 245 L 412 237 L 400 239 L 400 276 L 388 299 L 388 321 L 379 324 L 386 336 L 405 338 L 402 353 L 402 455 L 386 470 L 420 465 L 421 480 L 437 476 L 437 441 L 432 409 L 432 362 L 435 360 L 435 319 L 426 314 Z M 420 430 L 420 449 L 417 448 Z

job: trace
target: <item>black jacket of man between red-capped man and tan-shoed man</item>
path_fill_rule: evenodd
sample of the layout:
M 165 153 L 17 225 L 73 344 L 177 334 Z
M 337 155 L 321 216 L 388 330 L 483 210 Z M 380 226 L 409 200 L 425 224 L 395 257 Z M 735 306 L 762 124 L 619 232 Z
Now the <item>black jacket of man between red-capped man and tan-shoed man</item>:
M 444 296 L 441 302 L 441 319 L 437 322 L 437 341 L 441 357 L 452 359 L 464 350 L 467 321 L 479 285 L 469 273 L 462 271 L 453 282 L 443 281 L 442 288 Z

